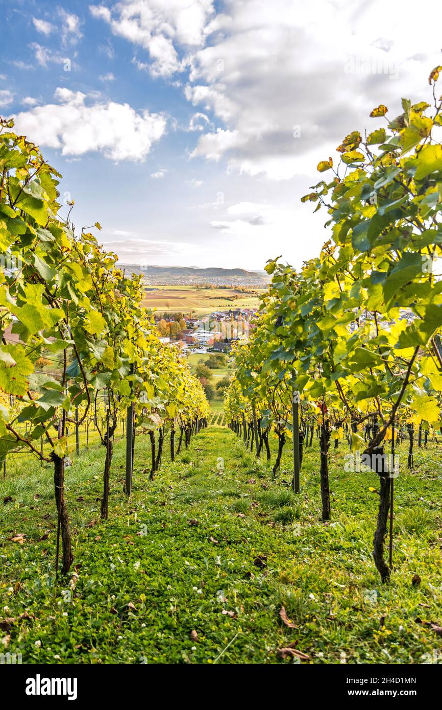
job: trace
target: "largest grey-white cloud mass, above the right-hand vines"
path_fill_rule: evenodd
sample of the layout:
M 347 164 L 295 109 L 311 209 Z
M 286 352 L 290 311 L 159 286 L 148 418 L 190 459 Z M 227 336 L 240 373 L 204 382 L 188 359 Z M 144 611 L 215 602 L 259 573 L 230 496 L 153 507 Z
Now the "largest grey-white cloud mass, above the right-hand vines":
M 371 127 L 381 101 L 397 97 L 393 112 L 402 96 L 428 99 L 426 77 L 440 63 L 431 6 L 422 0 L 406 18 L 382 0 L 226 0 L 223 31 L 192 55 L 184 91 L 223 133 L 201 135 L 192 155 L 225 155 L 231 168 L 275 180 L 314 173 L 346 133 Z

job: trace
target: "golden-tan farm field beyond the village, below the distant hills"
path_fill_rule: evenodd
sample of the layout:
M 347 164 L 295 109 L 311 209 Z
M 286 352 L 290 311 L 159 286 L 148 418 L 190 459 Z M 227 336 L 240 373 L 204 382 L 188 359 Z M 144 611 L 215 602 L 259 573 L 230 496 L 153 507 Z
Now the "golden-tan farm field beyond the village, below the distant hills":
M 182 312 L 201 317 L 214 310 L 257 308 L 258 295 L 241 293 L 235 289 L 192 288 L 189 286 L 157 286 L 158 291 L 145 292 L 143 306 L 161 312 Z

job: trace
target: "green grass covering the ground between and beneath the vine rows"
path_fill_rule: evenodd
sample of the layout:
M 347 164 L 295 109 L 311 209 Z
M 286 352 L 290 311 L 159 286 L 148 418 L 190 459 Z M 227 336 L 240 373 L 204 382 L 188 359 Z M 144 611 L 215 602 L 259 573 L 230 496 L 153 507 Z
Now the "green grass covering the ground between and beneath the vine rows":
M 345 444 L 331 451 L 328 524 L 320 520 L 316 439 L 295 496 L 289 444 L 273 481 L 233 432 L 214 426 L 174 464 L 166 451 L 148 481 L 150 447 L 137 437 L 130 499 L 120 441 L 106 523 L 97 501 L 104 447 L 72 457 L 66 488 L 76 567 L 59 581 L 52 471 L 29 459 L 9 464 L 1 494 L 13 500 L 0 498 L 1 614 L 32 616 L 13 623 L 7 650 L 23 663 L 282 663 L 290 661 L 277 648 L 295 643 L 312 663 L 419 663 L 442 652 L 442 639 L 415 621 L 442 621 L 441 473 L 429 463 L 441 449 L 417 451 L 419 468 L 395 481 L 387 585 L 371 558 L 377 476 L 344 471 Z M 13 542 L 14 533 L 25 542 Z M 295 628 L 282 624 L 282 605 Z

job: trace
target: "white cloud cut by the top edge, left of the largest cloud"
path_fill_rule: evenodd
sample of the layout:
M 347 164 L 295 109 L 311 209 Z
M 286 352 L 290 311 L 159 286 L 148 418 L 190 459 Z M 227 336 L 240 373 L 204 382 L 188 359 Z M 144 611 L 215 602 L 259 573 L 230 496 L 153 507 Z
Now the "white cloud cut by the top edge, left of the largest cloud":
M 91 5 L 114 35 L 148 51 L 147 67 L 155 76 L 170 77 L 185 66 L 182 51 L 204 45 L 207 24 L 214 14 L 212 0 L 123 0 L 110 9 Z M 139 68 L 145 68 L 140 62 Z

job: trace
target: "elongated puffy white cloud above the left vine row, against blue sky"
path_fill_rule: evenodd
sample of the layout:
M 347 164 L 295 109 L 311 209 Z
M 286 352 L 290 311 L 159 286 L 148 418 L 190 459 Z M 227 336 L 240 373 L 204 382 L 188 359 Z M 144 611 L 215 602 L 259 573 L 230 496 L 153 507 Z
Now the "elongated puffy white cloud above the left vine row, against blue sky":
M 58 88 L 55 104 L 35 107 L 15 117 L 16 131 L 62 155 L 99 151 L 111 160 L 143 161 L 166 129 L 165 117 L 137 113 L 128 104 L 87 103 L 82 92 Z

